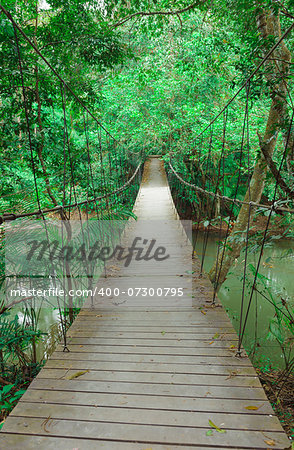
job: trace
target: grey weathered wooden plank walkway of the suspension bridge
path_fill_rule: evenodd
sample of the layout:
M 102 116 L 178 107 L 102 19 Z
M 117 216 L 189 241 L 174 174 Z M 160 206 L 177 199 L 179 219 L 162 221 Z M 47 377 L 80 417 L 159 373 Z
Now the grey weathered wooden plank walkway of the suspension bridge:
M 115 264 L 100 285 L 173 286 L 185 295 L 89 300 L 69 330 L 70 352 L 57 346 L 6 420 L 0 447 L 289 448 L 249 359 L 232 351 L 228 317 L 208 307 L 211 286 L 199 278 L 198 261 L 191 273 L 191 247 L 158 159 L 145 167 L 135 212 L 125 239 L 156 238 L 172 257 Z M 226 432 L 207 435 L 209 420 Z

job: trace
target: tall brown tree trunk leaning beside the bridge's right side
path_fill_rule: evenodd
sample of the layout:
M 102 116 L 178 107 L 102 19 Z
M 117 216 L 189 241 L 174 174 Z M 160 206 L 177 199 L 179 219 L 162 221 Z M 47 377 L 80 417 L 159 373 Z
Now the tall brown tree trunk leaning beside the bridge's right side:
M 276 38 L 281 37 L 279 16 L 275 16 L 272 12 L 266 13 L 262 11 L 257 17 L 257 26 L 263 39 L 266 39 L 269 35 L 274 35 Z M 274 62 L 266 63 L 271 69 L 271 71 L 268 71 L 267 78 L 273 87 L 271 95 L 272 103 L 267 119 L 266 130 L 261 139 L 261 145 L 269 158 L 272 158 L 273 156 L 278 133 L 281 130 L 282 122 L 285 121 L 287 111 L 287 85 L 283 77 L 285 77 L 289 71 L 291 55 L 283 42 L 275 51 L 274 58 L 275 57 L 284 62 L 278 63 L 279 65 L 277 65 L 277 61 L 275 60 Z M 275 83 L 277 78 L 279 82 Z M 281 78 L 283 79 L 281 80 Z M 264 190 L 267 169 L 267 162 L 263 153 L 261 153 L 256 160 L 250 186 L 245 195 L 244 200 L 246 202 L 260 202 Z M 218 290 L 225 281 L 231 266 L 236 259 L 239 258 L 240 253 L 246 244 L 248 219 L 250 227 L 254 216 L 254 208 L 251 207 L 249 218 L 249 208 L 248 205 L 242 205 L 233 230 L 227 239 L 227 243 L 209 272 L 209 278 L 216 290 Z

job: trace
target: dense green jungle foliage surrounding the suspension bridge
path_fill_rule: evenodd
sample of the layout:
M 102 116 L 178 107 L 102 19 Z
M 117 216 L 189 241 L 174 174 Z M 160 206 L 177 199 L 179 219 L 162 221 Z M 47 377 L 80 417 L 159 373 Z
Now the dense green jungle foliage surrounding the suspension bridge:
M 234 197 L 238 185 L 236 198 L 244 199 L 251 178 L 256 181 L 252 201 L 270 205 L 274 199 L 282 207 L 293 208 L 293 32 L 225 116 L 209 126 L 293 23 L 293 0 L 5 0 L 2 6 L 111 135 L 101 132 L 22 36 L 19 55 L 13 25 L 0 13 L 0 216 L 104 195 L 123 185 L 148 154 L 161 154 L 167 170 L 173 155 L 177 172 L 207 190 L 218 183 L 222 160 L 223 195 Z M 65 141 L 71 156 L 63 163 Z M 242 156 L 241 142 L 248 147 L 248 157 Z M 198 229 L 219 230 L 224 223 L 233 232 L 235 227 L 236 236 L 246 231 L 246 207 L 240 212 L 235 205 L 230 214 L 228 207 L 187 190 L 174 178 L 171 185 L 182 217 L 192 219 Z M 137 191 L 136 182 L 117 196 L 115 205 L 105 198 L 99 217 L 130 217 Z M 81 210 L 94 216 L 95 204 Z M 249 244 L 256 254 L 268 215 L 268 210 L 257 210 L 254 222 L 252 215 L 255 228 Z M 77 217 L 74 209 L 72 217 Z M 274 211 L 266 245 L 282 238 L 291 242 L 293 232 L 293 215 Z M 4 239 L 3 230 L 0 239 Z M 233 262 L 240 255 L 243 258 L 244 239 L 235 240 L 231 247 L 220 285 L 229 277 Z M 285 255 L 292 253 L 289 244 Z M 1 255 L 3 283 L 3 251 Z M 213 283 L 216 271 L 214 265 L 210 271 Z M 277 405 L 284 398 L 279 414 L 291 434 L 293 298 L 265 286 L 261 276 L 257 281 L 274 303 L 267 338 L 282 349 L 284 367 L 276 372 L 268 362 L 256 365 L 272 402 Z M 20 321 L 15 305 L 0 307 L 4 419 L 42 366 L 54 339 L 46 334 L 48 329 L 40 329 L 32 308 L 22 310 L 27 320 Z M 69 312 L 63 315 L 68 325 Z M 57 327 L 55 334 L 59 333 Z M 43 353 L 36 351 L 39 342 L 46 347 Z M 275 390 L 280 381 L 284 397 L 281 384 Z

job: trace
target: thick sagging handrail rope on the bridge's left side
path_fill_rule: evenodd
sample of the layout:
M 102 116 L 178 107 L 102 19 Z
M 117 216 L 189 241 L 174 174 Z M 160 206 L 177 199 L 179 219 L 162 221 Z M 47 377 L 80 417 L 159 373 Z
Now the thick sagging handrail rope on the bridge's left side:
M 40 214 L 47 214 L 50 212 L 58 212 L 62 209 L 76 208 L 78 206 L 86 205 L 87 203 L 93 203 L 96 201 L 99 202 L 99 201 L 105 199 L 106 197 L 111 197 L 113 195 L 119 194 L 119 193 L 125 191 L 129 187 L 129 185 L 132 183 L 133 179 L 136 177 L 141 165 L 142 165 L 142 163 L 140 162 L 138 164 L 136 170 L 134 171 L 133 175 L 131 176 L 131 178 L 129 178 L 129 180 L 125 184 L 123 184 L 121 187 L 119 187 L 118 189 L 115 189 L 112 192 L 108 192 L 107 194 L 101 195 L 100 197 L 92 198 L 91 200 L 84 200 L 81 202 L 71 203 L 69 205 L 64 205 L 64 206 L 62 206 L 62 205 L 55 206 L 54 208 L 43 209 L 42 211 L 33 211 L 30 213 L 22 213 L 22 214 L 14 214 L 14 213 L 3 214 L 2 216 L 0 216 L 0 225 L 3 222 L 9 222 L 11 220 L 20 219 L 23 217 L 39 216 Z

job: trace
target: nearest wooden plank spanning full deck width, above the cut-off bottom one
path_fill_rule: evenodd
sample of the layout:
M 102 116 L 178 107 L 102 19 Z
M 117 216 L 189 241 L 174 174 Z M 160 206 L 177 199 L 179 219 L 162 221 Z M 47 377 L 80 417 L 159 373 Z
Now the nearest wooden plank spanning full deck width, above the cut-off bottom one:
M 11 416 L 7 421 L 6 432 L 23 433 L 29 428 L 34 434 L 48 436 L 44 431 L 42 423 L 43 418 L 20 418 Z M 49 429 L 49 425 L 47 425 Z M 283 449 L 288 445 L 283 433 L 271 431 L 265 437 L 260 431 L 251 430 L 227 430 L 226 433 L 213 433 L 213 436 L 207 436 L 207 427 L 179 427 L 179 426 L 161 426 L 161 425 L 137 425 L 127 423 L 99 423 L 90 421 L 71 421 L 71 420 L 53 420 L 50 422 L 50 430 L 54 436 L 81 437 L 92 439 L 112 439 L 118 441 L 127 441 L 133 443 L 166 444 L 166 445 L 193 445 L 195 442 L 201 445 L 214 445 L 230 448 L 240 443 L 240 432 L 242 431 L 242 445 L 254 449 L 264 449 L 265 439 L 271 439 L 276 442 L 275 448 Z M 50 432 L 50 431 L 49 431 Z M 235 447 L 236 448 L 236 447 Z

